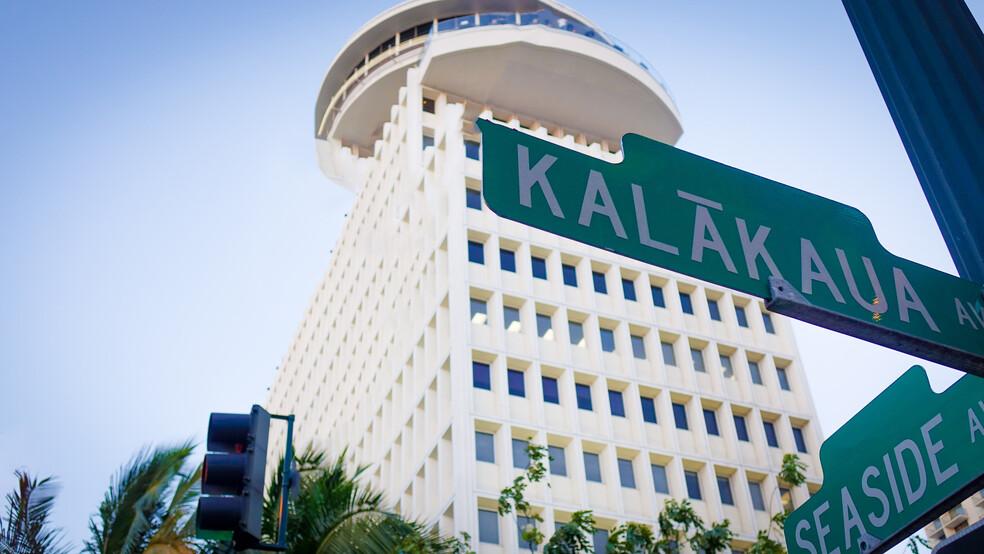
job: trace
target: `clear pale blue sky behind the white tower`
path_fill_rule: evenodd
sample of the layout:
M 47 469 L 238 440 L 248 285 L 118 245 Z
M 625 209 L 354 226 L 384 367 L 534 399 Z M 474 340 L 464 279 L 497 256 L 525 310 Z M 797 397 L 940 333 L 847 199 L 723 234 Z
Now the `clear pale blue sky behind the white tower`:
M 73 542 L 141 446 L 265 398 L 353 199 L 315 162 L 320 80 L 390 5 L 0 3 L 0 491 L 58 476 Z M 953 271 L 840 3 L 570 5 L 663 75 L 680 147 Z M 796 330 L 827 435 L 917 363 Z

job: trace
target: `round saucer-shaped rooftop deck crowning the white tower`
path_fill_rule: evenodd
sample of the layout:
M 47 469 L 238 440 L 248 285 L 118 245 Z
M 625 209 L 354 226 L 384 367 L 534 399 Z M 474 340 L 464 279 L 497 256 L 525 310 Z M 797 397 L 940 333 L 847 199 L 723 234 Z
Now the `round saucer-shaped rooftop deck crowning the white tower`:
M 615 144 L 629 132 L 667 143 L 682 133 L 652 65 L 565 6 L 410 0 L 364 25 L 335 57 L 315 107 L 318 142 L 371 151 L 410 67 L 423 68 L 425 86 Z

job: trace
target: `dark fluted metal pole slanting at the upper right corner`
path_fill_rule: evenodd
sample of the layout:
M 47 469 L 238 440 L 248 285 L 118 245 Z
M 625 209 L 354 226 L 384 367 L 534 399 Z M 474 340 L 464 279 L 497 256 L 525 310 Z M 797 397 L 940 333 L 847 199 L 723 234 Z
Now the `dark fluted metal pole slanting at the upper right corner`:
M 984 35 L 963 0 L 843 0 L 957 271 L 984 283 Z

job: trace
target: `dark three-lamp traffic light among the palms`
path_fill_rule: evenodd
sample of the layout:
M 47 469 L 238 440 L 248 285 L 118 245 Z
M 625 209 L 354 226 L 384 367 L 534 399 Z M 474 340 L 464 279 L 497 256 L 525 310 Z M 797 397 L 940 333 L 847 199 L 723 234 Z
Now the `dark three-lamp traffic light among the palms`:
M 270 414 L 254 405 L 248 414 L 216 414 L 208 420 L 198 536 L 232 540 L 237 550 L 260 543 L 263 480 Z

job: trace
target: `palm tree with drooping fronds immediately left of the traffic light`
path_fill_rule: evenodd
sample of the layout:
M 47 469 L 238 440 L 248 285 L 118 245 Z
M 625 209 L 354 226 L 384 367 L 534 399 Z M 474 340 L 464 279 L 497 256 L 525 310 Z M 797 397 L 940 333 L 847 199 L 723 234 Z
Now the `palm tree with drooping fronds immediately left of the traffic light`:
M 201 466 L 185 468 L 191 442 L 137 453 L 113 478 L 83 552 L 191 554 L 198 550 L 195 503 Z

